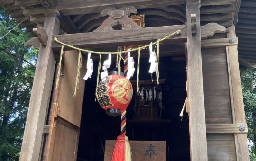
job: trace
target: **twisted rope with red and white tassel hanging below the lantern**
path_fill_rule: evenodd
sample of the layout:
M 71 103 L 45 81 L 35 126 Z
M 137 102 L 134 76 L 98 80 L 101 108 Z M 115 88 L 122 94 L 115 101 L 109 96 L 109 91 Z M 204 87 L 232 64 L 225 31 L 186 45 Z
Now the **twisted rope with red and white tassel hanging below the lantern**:
M 117 143 L 114 148 L 112 161 L 131 161 L 131 147 L 126 134 L 126 110 L 122 111 L 121 133 L 117 137 Z

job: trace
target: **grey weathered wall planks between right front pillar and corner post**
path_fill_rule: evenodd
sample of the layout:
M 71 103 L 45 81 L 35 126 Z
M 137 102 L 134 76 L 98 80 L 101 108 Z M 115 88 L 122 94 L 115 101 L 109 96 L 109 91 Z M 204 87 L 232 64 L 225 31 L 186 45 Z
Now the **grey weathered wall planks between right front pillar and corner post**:
M 226 48 L 202 49 L 206 124 L 232 124 Z M 234 134 L 207 134 L 208 161 L 236 161 Z

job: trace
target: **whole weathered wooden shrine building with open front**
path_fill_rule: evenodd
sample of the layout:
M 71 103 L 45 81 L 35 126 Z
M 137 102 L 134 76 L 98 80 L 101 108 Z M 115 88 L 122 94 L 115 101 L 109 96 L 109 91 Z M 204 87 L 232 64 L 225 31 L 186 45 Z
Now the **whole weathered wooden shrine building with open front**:
M 95 102 L 97 77 L 109 60 L 103 53 L 154 42 L 158 76 L 149 73 L 148 46 L 130 52 L 135 70 L 126 135 L 132 161 L 249 161 L 239 65 L 254 64 L 254 46 L 245 46 L 255 32 L 246 25 L 253 17 L 245 15 L 253 2 L 244 1 L 0 0 L 34 36 L 24 45 L 39 49 L 20 161 L 110 161 L 120 116 L 107 116 Z M 88 58 L 93 73 L 84 80 Z M 154 86 L 161 86 L 162 100 L 159 88 L 155 100 L 137 96 L 137 84 L 140 91 L 153 89 L 153 97 Z

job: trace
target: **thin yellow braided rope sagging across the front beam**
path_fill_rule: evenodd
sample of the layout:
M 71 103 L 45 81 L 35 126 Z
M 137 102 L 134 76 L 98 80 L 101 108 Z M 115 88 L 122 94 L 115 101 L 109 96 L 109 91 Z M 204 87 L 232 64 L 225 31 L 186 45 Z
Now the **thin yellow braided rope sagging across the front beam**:
M 157 44 L 157 42 L 161 42 L 161 41 L 163 41 L 163 40 L 165 40 L 165 39 L 167 39 L 167 38 L 169 38 L 169 37 L 171 37 L 171 36 L 176 36 L 176 35 L 178 35 L 180 32 L 181 32 L 181 30 L 178 30 L 178 31 L 176 31 L 176 32 L 174 32 L 174 33 L 172 33 L 172 34 L 170 34 L 170 35 L 168 35 L 168 36 L 165 36 L 165 37 L 162 38 L 162 39 L 158 39 L 156 42 L 154 42 L 154 43 L 152 43 L 152 44 L 149 44 L 149 45 L 155 45 L 155 44 Z M 74 46 L 71 46 L 71 45 L 67 45 L 67 44 L 65 44 L 65 43 L 63 43 L 63 42 L 61 42 L 61 41 L 59 41 L 59 40 L 57 39 L 57 37 L 55 37 L 54 40 L 55 40 L 57 43 L 60 43 L 60 44 L 65 45 L 65 46 L 68 46 L 68 47 L 70 47 L 70 48 L 73 48 L 73 49 L 76 49 L 76 50 L 81 50 L 81 51 L 83 51 L 83 52 L 91 52 L 91 53 L 95 53 L 95 54 L 119 54 L 119 53 L 126 53 L 126 52 L 127 52 L 127 51 L 119 51 L 119 52 L 96 52 L 96 51 L 85 50 L 85 49 L 81 49 L 81 48 L 74 47 Z M 146 47 L 148 47 L 149 45 L 145 45 L 145 46 L 142 46 L 142 47 L 138 47 L 138 48 L 135 48 L 135 49 L 131 49 L 130 52 L 137 51 L 137 50 L 139 50 L 139 48 L 140 48 L 140 49 L 141 49 L 141 48 L 146 48 Z

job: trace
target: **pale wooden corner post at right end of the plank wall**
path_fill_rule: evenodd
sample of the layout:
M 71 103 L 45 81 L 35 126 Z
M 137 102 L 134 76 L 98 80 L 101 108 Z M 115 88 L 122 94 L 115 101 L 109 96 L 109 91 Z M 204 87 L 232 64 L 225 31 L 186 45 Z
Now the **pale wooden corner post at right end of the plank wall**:
M 230 27 L 229 38 L 236 37 L 235 26 Z M 245 110 L 243 102 L 243 93 L 240 78 L 240 69 L 238 62 L 237 46 L 227 46 L 229 54 L 229 69 L 230 69 L 230 97 L 232 102 L 233 124 L 245 124 Z M 249 150 L 247 143 L 247 133 L 235 133 L 237 161 L 249 161 Z

